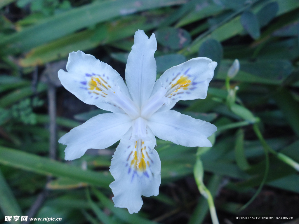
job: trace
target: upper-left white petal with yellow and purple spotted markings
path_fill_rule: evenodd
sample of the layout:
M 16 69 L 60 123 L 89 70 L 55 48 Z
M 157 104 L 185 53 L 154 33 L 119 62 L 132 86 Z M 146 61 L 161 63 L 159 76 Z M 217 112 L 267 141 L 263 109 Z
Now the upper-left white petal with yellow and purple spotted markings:
M 69 54 L 66 69 L 68 72 L 58 71 L 61 84 L 80 100 L 106 111 L 125 113 L 107 100 L 106 91 L 113 93 L 116 89 L 131 98 L 123 79 L 110 65 L 78 50 Z

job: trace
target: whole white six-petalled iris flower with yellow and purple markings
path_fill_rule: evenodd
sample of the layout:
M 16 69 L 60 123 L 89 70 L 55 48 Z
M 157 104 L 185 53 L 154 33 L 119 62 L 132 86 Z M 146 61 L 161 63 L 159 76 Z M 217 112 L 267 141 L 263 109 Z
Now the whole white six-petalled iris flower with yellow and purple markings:
M 104 149 L 120 139 L 111 161 L 110 184 L 115 207 L 138 212 L 141 195 L 157 196 L 161 161 L 155 136 L 179 145 L 212 146 L 207 139 L 216 126 L 171 110 L 179 100 L 205 99 L 216 62 L 193 58 L 156 80 L 155 34 L 138 30 L 126 64 L 126 84 L 110 66 L 82 51 L 68 56 L 59 70 L 62 85 L 87 104 L 111 111 L 94 116 L 59 139 L 65 159 L 80 158 L 89 148 Z

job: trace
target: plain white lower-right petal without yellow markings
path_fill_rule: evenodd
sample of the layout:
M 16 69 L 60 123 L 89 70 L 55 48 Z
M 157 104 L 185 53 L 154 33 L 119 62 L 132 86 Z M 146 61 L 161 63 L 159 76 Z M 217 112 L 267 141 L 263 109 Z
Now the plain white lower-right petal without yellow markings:
M 211 147 L 207 137 L 217 130 L 216 126 L 209 122 L 174 110 L 154 113 L 147 120 L 147 125 L 158 138 L 189 147 Z

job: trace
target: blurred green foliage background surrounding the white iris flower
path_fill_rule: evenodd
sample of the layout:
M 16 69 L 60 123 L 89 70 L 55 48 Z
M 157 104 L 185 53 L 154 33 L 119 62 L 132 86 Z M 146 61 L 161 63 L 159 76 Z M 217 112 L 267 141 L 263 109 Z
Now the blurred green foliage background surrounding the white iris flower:
M 0 7 L 0 223 L 26 214 L 76 224 L 212 223 L 212 198 L 220 223 L 299 217 L 298 0 L 1 0 Z M 111 200 L 117 144 L 64 160 L 57 139 L 106 111 L 60 87 L 57 71 L 68 53 L 83 50 L 124 77 L 138 29 L 156 35 L 158 77 L 198 56 L 218 63 L 207 98 L 175 107 L 218 131 L 211 148 L 157 139 L 160 194 L 130 215 Z

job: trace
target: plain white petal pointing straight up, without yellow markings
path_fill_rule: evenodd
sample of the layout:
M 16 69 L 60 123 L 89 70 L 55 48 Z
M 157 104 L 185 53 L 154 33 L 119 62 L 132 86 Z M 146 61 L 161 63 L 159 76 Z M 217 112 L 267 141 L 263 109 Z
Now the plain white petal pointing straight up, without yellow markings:
M 155 34 L 148 38 L 143 30 L 138 30 L 134 38 L 125 75 L 132 99 L 141 108 L 149 99 L 156 80 L 157 66 L 154 53 L 157 50 L 157 41 Z

